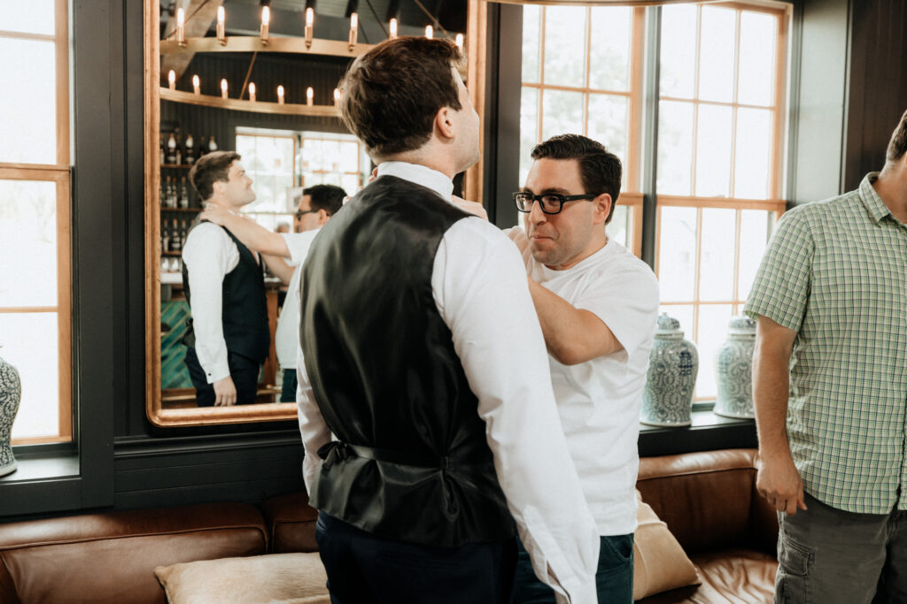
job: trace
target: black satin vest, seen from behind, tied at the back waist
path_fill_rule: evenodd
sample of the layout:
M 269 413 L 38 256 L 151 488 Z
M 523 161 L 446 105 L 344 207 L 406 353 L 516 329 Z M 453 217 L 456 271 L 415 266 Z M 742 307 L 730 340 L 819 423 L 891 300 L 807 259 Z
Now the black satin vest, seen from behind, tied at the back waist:
M 306 369 L 340 441 L 319 452 L 310 501 L 378 537 L 454 547 L 513 534 L 432 293 L 438 244 L 465 216 L 430 189 L 380 177 L 322 228 L 302 268 Z

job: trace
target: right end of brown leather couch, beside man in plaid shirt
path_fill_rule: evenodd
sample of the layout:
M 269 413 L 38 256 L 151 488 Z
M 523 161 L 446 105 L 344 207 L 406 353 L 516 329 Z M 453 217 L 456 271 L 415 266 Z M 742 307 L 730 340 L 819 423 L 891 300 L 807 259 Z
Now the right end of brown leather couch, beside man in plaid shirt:
M 644 457 L 637 488 L 668 524 L 702 584 L 662 592 L 645 604 L 771 602 L 775 593 L 775 510 L 756 493 L 756 450 Z

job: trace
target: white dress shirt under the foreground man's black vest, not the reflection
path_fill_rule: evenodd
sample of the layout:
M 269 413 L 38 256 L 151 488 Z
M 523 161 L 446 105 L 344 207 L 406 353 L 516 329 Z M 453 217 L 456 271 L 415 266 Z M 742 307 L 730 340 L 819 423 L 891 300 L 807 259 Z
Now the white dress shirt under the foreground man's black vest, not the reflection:
M 404 162 L 378 177 L 404 178 L 450 201 L 453 182 Z M 545 343 L 520 254 L 494 225 L 468 217 L 451 226 L 434 256 L 434 302 L 453 335 L 479 400 L 498 482 L 536 575 L 558 601 L 597 601 L 599 537 L 571 462 L 551 390 Z M 331 439 L 298 352 L 297 405 L 307 487 L 317 449 Z

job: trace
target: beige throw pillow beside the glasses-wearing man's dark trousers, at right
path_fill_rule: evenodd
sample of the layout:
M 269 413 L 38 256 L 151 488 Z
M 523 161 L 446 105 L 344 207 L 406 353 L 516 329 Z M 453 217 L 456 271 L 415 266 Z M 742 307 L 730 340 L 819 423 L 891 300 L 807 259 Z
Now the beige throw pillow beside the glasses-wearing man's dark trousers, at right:
M 639 527 L 633 537 L 633 599 L 702 581 L 693 562 L 649 504 L 636 492 Z

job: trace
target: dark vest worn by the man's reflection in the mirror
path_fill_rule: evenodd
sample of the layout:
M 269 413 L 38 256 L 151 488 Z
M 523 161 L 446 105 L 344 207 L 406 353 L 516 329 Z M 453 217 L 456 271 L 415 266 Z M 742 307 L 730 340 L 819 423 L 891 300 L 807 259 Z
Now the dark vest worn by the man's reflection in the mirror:
M 199 224 L 192 225 L 192 228 Z M 268 348 L 271 343 L 265 275 L 249 248 L 240 243 L 228 229 L 224 228 L 224 231 L 239 249 L 239 264 L 224 275 L 222 285 L 220 321 L 223 325 L 224 341 L 229 352 L 264 363 L 268 359 Z M 189 302 L 191 307 L 189 267 L 186 263 L 182 264 L 182 287 L 186 292 L 186 302 Z M 190 348 L 195 348 L 192 320 L 188 319 L 186 324 L 188 329 L 183 342 Z

